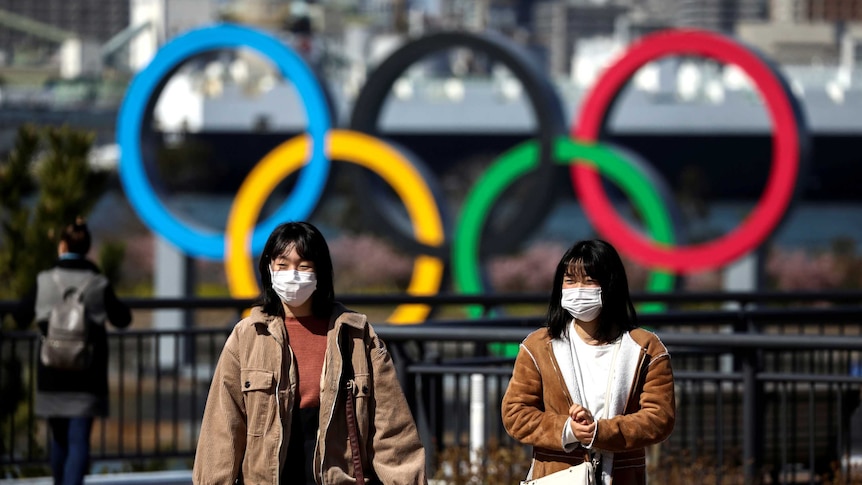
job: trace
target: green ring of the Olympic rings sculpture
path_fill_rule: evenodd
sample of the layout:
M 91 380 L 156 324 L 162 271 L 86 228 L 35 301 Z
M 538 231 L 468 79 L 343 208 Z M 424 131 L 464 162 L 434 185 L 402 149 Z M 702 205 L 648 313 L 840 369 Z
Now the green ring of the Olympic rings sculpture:
M 482 228 L 494 202 L 512 182 L 539 166 L 539 146 L 536 141 L 524 142 L 500 155 L 479 178 L 461 208 L 452 244 L 452 271 L 458 290 L 464 294 L 481 294 L 484 283 L 479 271 L 479 241 Z M 560 165 L 583 163 L 594 167 L 616 184 L 632 201 L 643 217 L 644 226 L 652 238 L 664 244 L 676 240 L 671 214 L 643 167 L 627 160 L 608 145 L 577 142 L 560 137 L 554 143 L 554 160 Z M 673 289 L 675 276 L 671 272 L 652 270 L 647 290 L 667 292 Z M 641 311 L 659 311 L 664 305 L 645 304 Z M 470 305 L 468 313 L 477 317 L 481 307 Z

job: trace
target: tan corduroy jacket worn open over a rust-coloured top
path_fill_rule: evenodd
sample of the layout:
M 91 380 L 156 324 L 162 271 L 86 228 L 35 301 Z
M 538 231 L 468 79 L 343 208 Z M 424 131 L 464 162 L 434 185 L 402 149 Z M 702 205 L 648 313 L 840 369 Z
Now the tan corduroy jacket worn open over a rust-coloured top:
M 395 367 L 365 315 L 337 305 L 330 319 L 314 456 L 319 484 L 352 484 L 353 465 L 339 386 L 341 334 L 349 335 L 356 418 L 366 480 L 424 484 L 425 450 Z M 277 485 L 290 437 L 298 374 L 284 321 L 260 308 L 235 327 L 213 376 L 192 478 L 196 484 Z M 342 389 L 339 389 L 342 387 Z

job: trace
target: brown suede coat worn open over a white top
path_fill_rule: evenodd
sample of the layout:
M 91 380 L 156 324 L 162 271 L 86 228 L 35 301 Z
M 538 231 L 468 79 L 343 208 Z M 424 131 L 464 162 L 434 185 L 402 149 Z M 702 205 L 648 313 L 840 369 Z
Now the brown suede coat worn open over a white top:
M 675 419 L 670 355 L 655 334 L 643 329 L 629 334 L 640 347 L 640 362 L 622 415 L 598 421 L 593 448 L 614 453 L 616 484 L 646 483 L 645 450 L 667 439 Z M 547 328 L 531 333 L 521 344 L 509 387 L 503 397 L 506 431 L 533 446 L 533 477 L 541 478 L 583 462 L 584 448 L 567 453 L 563 426 L 572 397 L 560 373 Z

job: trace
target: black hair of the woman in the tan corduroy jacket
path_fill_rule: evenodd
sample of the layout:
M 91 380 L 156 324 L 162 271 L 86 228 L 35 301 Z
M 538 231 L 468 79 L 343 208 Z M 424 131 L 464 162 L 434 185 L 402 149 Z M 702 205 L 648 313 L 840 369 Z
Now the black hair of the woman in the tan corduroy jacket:
M 269 268 L 272 260 L 291 247 L 296 249 L 301 258 L 314 263 L 317 289 L 311 295 L 311 311 L 318 318 L 329 318 L 335 302 L 332 258 L 323 234 L 308 222 L 285 222 L 273 229 L 269 235 L 257 267 L 260 274 L 260 296 L 255 305 L 262 306 L 263 311 L 270 315 L 284 317 L 281 299 L 272 289 Z

